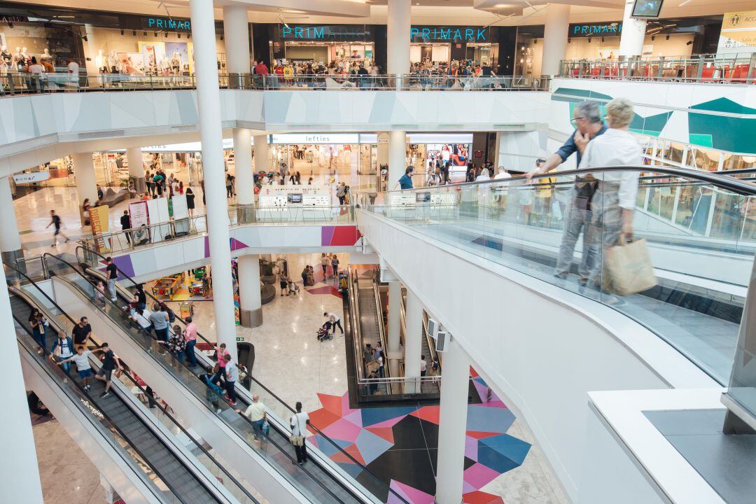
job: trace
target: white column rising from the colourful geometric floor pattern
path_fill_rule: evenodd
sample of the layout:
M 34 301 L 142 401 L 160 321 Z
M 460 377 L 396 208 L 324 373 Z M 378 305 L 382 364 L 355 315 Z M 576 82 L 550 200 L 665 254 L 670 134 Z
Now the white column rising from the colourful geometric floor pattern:
M 465 465 L 469 359 L 454 339 L 449 345 L 449 350 L 444 352 L 443 358 L 435 502 L 460 504 Z

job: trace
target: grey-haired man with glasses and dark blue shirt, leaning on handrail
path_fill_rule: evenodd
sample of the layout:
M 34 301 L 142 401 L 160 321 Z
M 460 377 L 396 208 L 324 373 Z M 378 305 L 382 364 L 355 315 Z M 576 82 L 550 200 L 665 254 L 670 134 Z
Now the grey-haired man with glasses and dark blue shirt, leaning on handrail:
M 583 152 L 592 138 L 602 135 L 606 131 L 606 125 L 601 120 L 599 106 L 593 101 L 583 101 L 575 107 L 573 119 L 575 133 L 567 139 L 556 153 L 553 153 L 540 167 L 525 175 L 530 180 L 533 175 L 550 172 L 565 162 L 569 156 L 577 153 L 577 166 L 580 166 Z M 559 246 L 559 255 L 556 258 L 556 270 L 554 276 L 566 278 L 572 267 L 572 255 L 575 252 L 575 243 L 583 232 L 583 253 L 578 267 L 578 283 L 585 285 L 591 271 L 591 258 L 589 254 L 590 240 L 586 238 L 586 230 L 590 224 L 590 199 L 596 190 L 596 183 L 586 177 L 576 177 L 575 186 L 569 191 L 567 209 L 564 215 L 564 230 L 562 244 Z

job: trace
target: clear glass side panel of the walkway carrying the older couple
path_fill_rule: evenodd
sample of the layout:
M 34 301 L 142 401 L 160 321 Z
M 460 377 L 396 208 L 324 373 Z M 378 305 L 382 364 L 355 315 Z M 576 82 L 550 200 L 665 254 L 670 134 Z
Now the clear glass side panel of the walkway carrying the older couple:
M 694 179 L 646 174 L 639 193 L 648 193 L 648 213 L 637 211 L 635 205 L 641 199 L 645 203 L 646 195 L 633 195 L 628 218 L 634 239 L 646 239 L 648 264 L 657 267 L 657 286 L 624 293 L 606 282 L 605 252 L 618 245 L 622 234 L 619 219 L 623 218 L 618 206 L 619 172 L 608 173 L 593 174 L 595 181 L 590 184 L 612 190 L 612 199 L 605 202 L 599 191 L 596 194 L 602 199 L 590 199 L 587 211 L 579 210 L 587 205 L 586 197 L 593 197 L 581 196 L 585 183 L 558 172 L 551 175 L 556 180 L 549 193 L 538 181 L 528 184 L 524 178 L 516 178 L 361 195 L 358 201 L 361 208 L 400 221 L 445 246 L 621 311 L 670 342 L 719 382 L 727 382 L 742 312 L 742 300 L 730 295 L 727 284 L 731 280 L 723 280 L 725 275 L 707 278 L 713 286 L 702 294 L 707 291 L 699 285 L 700 274 L 668 258 L 662 269 L 654 261 L 675 250 L 686 252 L 680 261 L 692 257 L 690 252 L 700 252 L 708 255 L 709 271 L 725 272 L 735 253 L 747 266 L 753 260 L 754 247 L 746 246 L 740 235 L 754 230 L 754 224 L 745 220 L 751 212 L 750 198 Z M 538 202 L 539 196 L 544 201 Z M 443 211 L 438 204 L 442 197 L 449 198 Z M 581 214 L 584 217 L 578 218 Z M 605 218 L 609 220 L 603 221 Z M 678 274 L 687 275 L 687 281 L 667 280 L 666 271 L 676 279 Z M 714 296 L 717 302 L 707 302 L 707 296 Z

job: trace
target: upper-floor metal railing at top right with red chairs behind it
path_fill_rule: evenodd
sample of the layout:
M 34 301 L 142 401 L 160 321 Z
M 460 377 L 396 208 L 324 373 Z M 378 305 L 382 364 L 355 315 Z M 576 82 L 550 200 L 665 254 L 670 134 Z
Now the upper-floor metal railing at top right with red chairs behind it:
M 756 53 L 734 56 L 633 57 L 627 60 L 562 60 L 559 77 L 754 84 Z

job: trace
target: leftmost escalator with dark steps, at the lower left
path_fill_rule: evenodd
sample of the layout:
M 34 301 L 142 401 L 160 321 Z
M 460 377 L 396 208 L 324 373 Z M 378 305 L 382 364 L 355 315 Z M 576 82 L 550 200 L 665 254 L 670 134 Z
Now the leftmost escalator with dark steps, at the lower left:
M 68 403 L 70 410 L 83 407 L 92 418 L 99 420 L 100 427 L 109 433 L 111 445 L 119 444 L 122 451 L 132 456 L 132 463 L 155 487 L 156 493 L 161 497 L 160 502 L 257 504 L 258 501 L 246 493 L 246 490 L 243 490 L 234 478 L 209 453 L 206 453 L 197 441 L 194 441 L 194 438 L 188 436 L 186 431 L 183 433 L 196 445 L 191 448 L 197 449 L 199 453 L 205 452 L 203 453 L 206 457 L 205 465 L 200 463 L 187 448 L 176 442 L 171 431 L 181 433 L 183 428 L 178 423 L 174 423 L 171 416 L 164 412 L 163 423 L 160 423 L 155 416 L 147 413 L 129 388 L 126 388 L 126 385 L 132 385 L 141 389 L 129 373 L 122 375 L 123 381 L 114 378 L 110 388 L 111 394 L 103 398 L 100 395 L 104 391 L 104 382 L 90 379 L 91 389 L 85 389 L 79 373 L 74 370 L 75 365 L 72 364 L 70 371 L 66 372 L 54 363 L 48 348 L 38 348 L 27 323 L 34 309 L 47 314 L 50 324 L 48 335 L 50 336 L 56 333 L 69 335 L 70 329 L 75 325 L 74 321 L 51 298 L 48 298 L 39 286 L 29 281 L 22 288 L 9 287 L 8 294 L 16 322 L 18 345 L 22 354 L 26 354 L 26 359 L 22 359 L 22 362 L 34 368 L 37 378 L 49 382 L 47 390 L 40 393 L 47 395 L 45 404 L 51 407 L 56 417 L 62 419 L 70 416 L 71 413 L 56 410 L 53 405 L 60 401 L 50 399 L 51 393 L 56 394 L 58 398 L 67 396 L 67 401 L 63 402 Z M 39 298 L 43 301 L 39 301 Z M 50 337 L 46 344 L 50 347 L 51 343 Z M 90 343 L 88 348 L 98 346 L 94 340 Z M 94 373 L 99 369 L 100 362 L 94 355 L 91 355 L 89 360 Z M 129 384 L 129 381 L 132 383 Z M 56 387 L 60 388 L 57 392 L 53 391 Z M 141 391 L 144 392 L 144 389 Z M 227 488 L 218 484 L 218 479 L 212 475 L 211 471 L 224 475 L 228 481 L 227 486 L 230 484 L 231 487 Z M 233 493 L 240 498 L 237 499 Z

